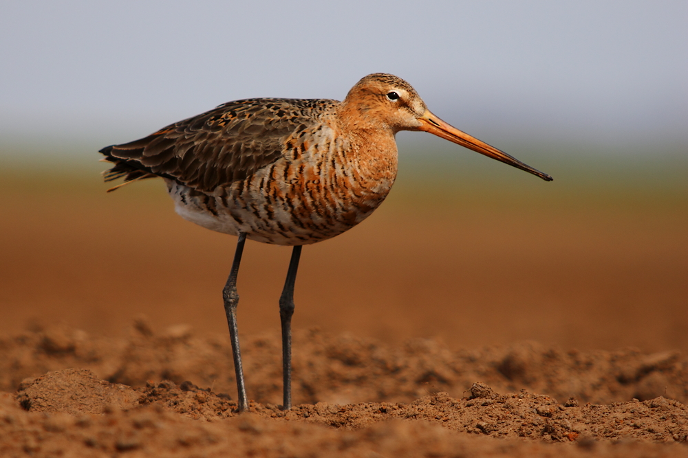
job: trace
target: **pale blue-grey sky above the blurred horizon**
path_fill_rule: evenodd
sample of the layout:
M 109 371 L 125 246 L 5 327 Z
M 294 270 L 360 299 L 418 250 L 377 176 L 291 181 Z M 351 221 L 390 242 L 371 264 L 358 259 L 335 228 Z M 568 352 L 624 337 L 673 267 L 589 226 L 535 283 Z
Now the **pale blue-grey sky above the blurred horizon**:
M 685 0 L 4 0 L 0 44 L 5 152 L 97 150 L 241 98 L 341 100 L 378 71 L 488 143 L 688 146 Z

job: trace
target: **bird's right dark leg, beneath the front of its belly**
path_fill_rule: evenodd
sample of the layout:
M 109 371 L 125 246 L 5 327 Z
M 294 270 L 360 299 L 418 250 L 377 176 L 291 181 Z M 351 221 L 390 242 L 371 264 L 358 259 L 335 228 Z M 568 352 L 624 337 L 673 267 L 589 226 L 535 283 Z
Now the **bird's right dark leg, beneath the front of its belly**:
M 292 250 L 287 279 L 279 297 L 279 318 L 282 323 L 282 375 L 284 383 L 283 409 L 292 408 L 292 314 L 294 314 L 294 283 L 297 281 L 301 245 Z

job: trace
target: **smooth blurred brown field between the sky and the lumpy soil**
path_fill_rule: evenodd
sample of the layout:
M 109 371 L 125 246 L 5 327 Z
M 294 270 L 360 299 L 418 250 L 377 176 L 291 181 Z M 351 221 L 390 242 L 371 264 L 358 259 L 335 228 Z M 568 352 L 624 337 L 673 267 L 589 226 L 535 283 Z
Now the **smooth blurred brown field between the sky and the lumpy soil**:
M 685 160 L 608 163 L 612 180 L 594 165 L 528 162 L 555 181 L 402 157 L 372 217 L 303 250 L 294 328 L 389 343 L 440 336 L 450 347 L 688 350 Z M 160 181 L 106 194 L 103 168 L 0 171 L 0 332 L 63 321 L 113 335 L 142 314 L 158 329 L 226 332 L 236 239 L 176 216 Z M 248 242 L 241 333 L 279 328 L 289 255 Z

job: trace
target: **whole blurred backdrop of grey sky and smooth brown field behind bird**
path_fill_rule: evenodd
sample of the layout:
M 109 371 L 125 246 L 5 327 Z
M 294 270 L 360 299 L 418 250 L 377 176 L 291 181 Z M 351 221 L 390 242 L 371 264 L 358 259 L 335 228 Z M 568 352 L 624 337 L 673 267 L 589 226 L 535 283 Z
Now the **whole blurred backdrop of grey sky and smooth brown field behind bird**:
M 176 216 L 162 181 L 105 194 L 97 151 L 228 100 L 341 100 L 384 71 L 555 181 L 400 133 L 385 204 L 304 249 L 295 328 L 688 350 L 686 1 L 2 9 L 0 332 L 226 332 L 236 239 Z M 289 255 L 248 242 L 240 332 L 278 332 Z

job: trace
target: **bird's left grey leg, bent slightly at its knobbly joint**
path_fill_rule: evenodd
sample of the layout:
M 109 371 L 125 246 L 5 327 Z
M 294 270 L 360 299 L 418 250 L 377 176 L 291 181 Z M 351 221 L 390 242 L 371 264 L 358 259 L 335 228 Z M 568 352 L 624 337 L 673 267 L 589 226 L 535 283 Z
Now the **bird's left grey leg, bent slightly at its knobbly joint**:
M 237 275 L 239 275 L 239 264 L 241 264 L 241 253 L 244 253 L 244 243 L 246 234 L 239 233 L 237 251 L 234 253 L 232 270 L 229 273 L 227 283 L 222 290 L 224 299 L 224 312 L 227 314 L 227 324 L 229 325 L 229 336 L 232 340 L 232 356 L 234 357 L 234 370 L 237 374 L 237 392 L 239 396 L 239 412 L 248 409 L 246 400 L 246 385 L 244 385 L 244 369 L 241 368 L 241 351 L 239 350 L 239 331 L 237 330 L 237 306 L 239 305 L 239 294 L 237 293 Z

